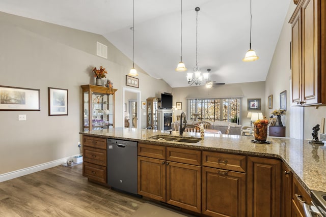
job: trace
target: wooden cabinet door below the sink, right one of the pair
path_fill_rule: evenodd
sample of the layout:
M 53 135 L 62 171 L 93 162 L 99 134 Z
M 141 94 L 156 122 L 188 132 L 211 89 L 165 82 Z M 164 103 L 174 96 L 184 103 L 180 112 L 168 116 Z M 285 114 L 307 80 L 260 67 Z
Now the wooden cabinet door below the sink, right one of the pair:
M 201 212 L 201 167 L 167 161 L 167 203 Z

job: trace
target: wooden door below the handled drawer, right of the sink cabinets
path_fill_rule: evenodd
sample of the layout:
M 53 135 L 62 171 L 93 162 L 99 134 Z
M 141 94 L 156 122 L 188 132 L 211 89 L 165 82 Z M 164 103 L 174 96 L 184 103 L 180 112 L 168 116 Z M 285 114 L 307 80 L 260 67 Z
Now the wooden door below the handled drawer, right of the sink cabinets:
M 203 167 L 202 213 L 219 217 L 246 216 L 246 174 Z

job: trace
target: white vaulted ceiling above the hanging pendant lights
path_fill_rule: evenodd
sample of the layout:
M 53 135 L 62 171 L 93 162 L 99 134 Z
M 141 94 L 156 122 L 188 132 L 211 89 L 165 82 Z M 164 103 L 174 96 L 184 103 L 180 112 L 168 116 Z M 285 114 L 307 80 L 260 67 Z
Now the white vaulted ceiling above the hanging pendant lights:
M 291 0 L 252 0 L 252 49 L 257 61 L 245 63 L 250 41 L 250 0 L 183 0 L 182 60 L 188 71 L 211 69 L 216 82 L 264 81 Z M 103 35 L 132 59 L 132 0 L 2 0 L 0 11 Z M 134 0 L 134 63 L 171 87 L 188 86 L 180 61 L 180 0 Z M 289 52 L 289 48 L 284 48 Z M 110 52 L 110 51 L 109 51 Z M 131 65 L 130 65 L 131 68 Z M 127 74 L 128 72 L 126 72 Z

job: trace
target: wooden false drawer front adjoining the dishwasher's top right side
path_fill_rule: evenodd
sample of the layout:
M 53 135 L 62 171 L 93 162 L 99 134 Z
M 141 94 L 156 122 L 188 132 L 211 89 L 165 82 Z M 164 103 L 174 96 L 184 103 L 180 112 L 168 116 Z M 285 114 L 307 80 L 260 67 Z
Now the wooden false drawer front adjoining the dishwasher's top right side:
M 166 160 L 167 157 L 166 147 L 161 145 L 138 143 L 138 155 L 149 157 L 149 158 Z

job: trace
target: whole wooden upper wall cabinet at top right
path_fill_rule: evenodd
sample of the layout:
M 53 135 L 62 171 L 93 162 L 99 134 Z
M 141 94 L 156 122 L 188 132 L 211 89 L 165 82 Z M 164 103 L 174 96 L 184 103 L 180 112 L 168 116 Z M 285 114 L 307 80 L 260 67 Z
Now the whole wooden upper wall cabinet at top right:
M 292 25 L 292 105 L 326 105 L 325 1 L 302 0 Z

